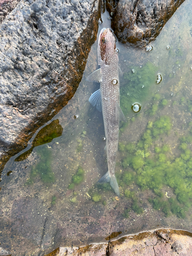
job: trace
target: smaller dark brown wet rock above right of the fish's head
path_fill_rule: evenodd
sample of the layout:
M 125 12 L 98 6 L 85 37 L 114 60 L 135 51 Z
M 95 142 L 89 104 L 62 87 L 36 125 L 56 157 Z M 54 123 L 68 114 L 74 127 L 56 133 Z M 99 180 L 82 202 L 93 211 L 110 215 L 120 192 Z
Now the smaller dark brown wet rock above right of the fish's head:
M 167 20 L 185 0 L 107 0 L 112 29 L 118 40 L 144 47 L 159 35 Z

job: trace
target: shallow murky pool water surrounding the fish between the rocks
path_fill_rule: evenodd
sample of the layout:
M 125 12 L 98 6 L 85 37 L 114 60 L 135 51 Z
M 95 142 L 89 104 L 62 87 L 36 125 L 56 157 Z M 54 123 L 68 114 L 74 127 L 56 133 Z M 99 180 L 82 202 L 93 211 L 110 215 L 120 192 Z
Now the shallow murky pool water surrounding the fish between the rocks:
M 38 139 L 39 129 L 4 168 L 4 249 L 44 255 L 39 251 L 106 241 L 113 232 L 123 236 L 161 227 L 192 232 L 191 6 L 186 0 L 176 11 L 153 50 L 117 45 L 127 119 L 120 123 L 116 164 L 121 197 L 108 184 L 97 185 L 107 163 L 102 114 L 89 103 L 99 84 L 86 82 L 97 69 L 95 42 L 76 94 L 53 119 L 59 123 L 45 128 L 44 139 Z M 110 27 L 108 16 L 102 16 L 98 33 Z M 141 105 L 137 113 L 134 103 Z

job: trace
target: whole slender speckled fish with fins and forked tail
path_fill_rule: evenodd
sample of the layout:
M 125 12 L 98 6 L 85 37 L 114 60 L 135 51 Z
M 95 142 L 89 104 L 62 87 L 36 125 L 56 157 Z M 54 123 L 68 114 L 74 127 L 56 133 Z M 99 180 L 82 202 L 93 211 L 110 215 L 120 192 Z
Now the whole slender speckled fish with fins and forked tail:
M 100 89 L 94 92 L 89 102 L 102 112 L 106 138 L 106 156 L 108 172 L 98 181 L 109 182 L 115 194 L 120 197 L 119 186 L 115 177 L 115 165 L 119 140 L 119 121 L 126 122 L 120 108 L 119 74 L 116 37 L 111 29 L 103 28 L 98 37 L 97 57 L 100 68 L 87 77 L 87 81 L 99 82 Z

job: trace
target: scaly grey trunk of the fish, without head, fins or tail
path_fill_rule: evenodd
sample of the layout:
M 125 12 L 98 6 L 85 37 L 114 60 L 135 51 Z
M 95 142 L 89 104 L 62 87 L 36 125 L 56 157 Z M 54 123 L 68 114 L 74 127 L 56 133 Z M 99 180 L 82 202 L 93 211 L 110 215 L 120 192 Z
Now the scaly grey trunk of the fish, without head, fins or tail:
M 100 92 L 106 137 L 106 154 L 108 170 L 112 175 L 115 173 L 119 138 L 119 118 L 116 114 L 116 103 L 119 104 L 118 56 L 110 65 L 101 66 L 101 74 Z M 117 84 L 113 84 L 113 79 L 118 81 Z

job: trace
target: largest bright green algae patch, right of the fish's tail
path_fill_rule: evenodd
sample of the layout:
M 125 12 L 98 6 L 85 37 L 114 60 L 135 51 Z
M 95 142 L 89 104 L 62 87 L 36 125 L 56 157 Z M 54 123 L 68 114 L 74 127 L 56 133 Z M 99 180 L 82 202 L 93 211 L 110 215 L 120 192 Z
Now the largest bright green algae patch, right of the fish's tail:
M 172 120 L 168 116 L 161 116 L 155 121 L 149 121 L 146 130 L 138 143 L 124 144 L 119 142 L 119 150 L 124 158 L 121 160 L 123 172 L 118 178 L 118 183 L 124 191 L 124 196 L 132 200 L 132 209 L 142 213 L 138 199 L 129 185 L 136 183 L 142 190 L 150 188 L 157 196 L 152 203 L 154 209 L 160 209 L 168 217 L 170 214 L 184 218 L 185 211 L 192 205 L 192 155 L 189 150 L 191 143 L 191 127 L 188 125 L 189 134 L 180 138 L 178 150 L 180 155 L 173 157 L 167 155 L 170 146 L 154 146 L 154 142 L 165 138 L 172 129 Z M 150 150 L 149 150 L 150 148 Z M 149 151 L 154 148 L 154 154 Z M 173 189 L 175 199 L 163 196 L 162 188 L 168 186 Z M 174 201 L 173 201 L 174 200 Z M 140 208 L 141 209 L 140 209 Z M 185 209 L 185 210 L 183 210 Z

